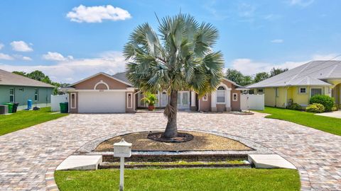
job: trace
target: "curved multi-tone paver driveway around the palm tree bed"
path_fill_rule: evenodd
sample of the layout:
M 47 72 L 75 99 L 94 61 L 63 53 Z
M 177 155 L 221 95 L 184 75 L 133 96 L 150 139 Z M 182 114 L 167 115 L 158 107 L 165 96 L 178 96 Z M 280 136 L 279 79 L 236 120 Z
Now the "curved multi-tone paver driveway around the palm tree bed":
M 1 190 L 55 188 L 53 170 L 80 146 L 107 134 L 163 129 L 162 113 L 68 115 L 0 137 Z M 341 190 L 341 137 L 263 114 L 180 112 L 179 129 L 224 132 L 255 141 L 298 167 L 303 190 Z M 46 175 L 46 177 L 45 177 Z M 45 181 L 45 178 L 47 182 Z

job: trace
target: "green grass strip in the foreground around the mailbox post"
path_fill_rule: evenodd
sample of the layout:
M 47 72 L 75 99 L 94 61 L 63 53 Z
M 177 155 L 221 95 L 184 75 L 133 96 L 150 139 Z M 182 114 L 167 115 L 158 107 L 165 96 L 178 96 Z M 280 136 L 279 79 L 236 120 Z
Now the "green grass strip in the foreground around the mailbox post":
M 118 190 L 119 170 L 56 171 L 65 190 Z M 124 190 L 300 190 L 297 170 L 185 168 L 125 170 Z

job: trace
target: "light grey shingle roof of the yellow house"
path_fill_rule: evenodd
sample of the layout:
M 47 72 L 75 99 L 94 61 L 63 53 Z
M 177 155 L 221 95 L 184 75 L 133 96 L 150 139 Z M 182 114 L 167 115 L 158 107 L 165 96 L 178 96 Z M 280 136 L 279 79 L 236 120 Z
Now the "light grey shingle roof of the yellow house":
M 341 61 L 312 61 L 247 88 L 278 86 L 331 86 L 323 80 L 341 79 Z

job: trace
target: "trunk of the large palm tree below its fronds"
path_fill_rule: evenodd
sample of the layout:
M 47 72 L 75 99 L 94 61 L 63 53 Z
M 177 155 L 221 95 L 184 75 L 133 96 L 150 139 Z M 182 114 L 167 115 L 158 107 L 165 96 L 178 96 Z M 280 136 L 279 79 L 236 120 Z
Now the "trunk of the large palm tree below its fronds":
M 171 91 L 171 100 L 169 103 L 173 108 L 173 115 L 168 117 L 168 122 L 163 137 L 172 138 L 178 136 L 178 126 L 176 124 L 176 115 L 178 113 L 178 91 Z

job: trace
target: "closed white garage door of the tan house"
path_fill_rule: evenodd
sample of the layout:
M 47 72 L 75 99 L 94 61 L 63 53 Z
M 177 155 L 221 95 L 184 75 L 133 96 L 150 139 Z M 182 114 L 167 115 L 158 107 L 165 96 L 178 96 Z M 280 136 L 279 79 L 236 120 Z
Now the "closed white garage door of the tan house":
M 80 92 L 78 112 L 126 112 L 124 92 Z

